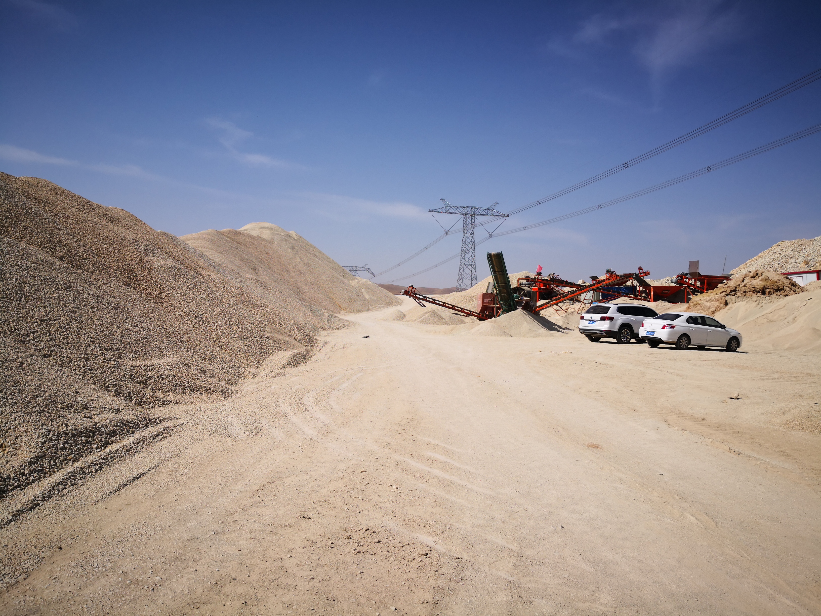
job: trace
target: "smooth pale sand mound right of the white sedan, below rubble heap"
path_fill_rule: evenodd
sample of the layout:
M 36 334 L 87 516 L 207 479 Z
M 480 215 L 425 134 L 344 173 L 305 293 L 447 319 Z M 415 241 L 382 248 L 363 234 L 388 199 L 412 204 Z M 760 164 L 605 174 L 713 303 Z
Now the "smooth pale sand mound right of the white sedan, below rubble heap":
M 692 303 L 692 302 L 690 302 Z M 777 350 L 821 351 L 821 290 L 791 297 L 742 298 L 716 313 L 722 323 L 737 329 L 744 344 Z

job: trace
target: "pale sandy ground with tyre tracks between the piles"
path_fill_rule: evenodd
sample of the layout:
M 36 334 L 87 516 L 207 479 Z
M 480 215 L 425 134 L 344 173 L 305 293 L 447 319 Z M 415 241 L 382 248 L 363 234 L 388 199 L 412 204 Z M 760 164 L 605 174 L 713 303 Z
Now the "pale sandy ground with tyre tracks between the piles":
M 0 613 L 821 614 L 817 352 L 390 310 L 7 523 Z

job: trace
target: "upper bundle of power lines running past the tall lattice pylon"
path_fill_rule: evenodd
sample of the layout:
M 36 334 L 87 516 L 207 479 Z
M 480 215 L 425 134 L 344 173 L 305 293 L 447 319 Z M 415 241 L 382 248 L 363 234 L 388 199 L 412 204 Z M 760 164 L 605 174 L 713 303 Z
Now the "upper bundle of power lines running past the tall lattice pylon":
M 781 88 L 778 88 L 777 90 L 773 90 L 769 94 L 764 94 L 764 96 L 760 97 L 759 99 L 755 99 L 751 103 L 747 103 L 747 104 L 743 105 L 742 107 L 739 107 L 739 108 L 735 109 L 734 111 L 732 111 L 730 113 L 725 113 L 722 117 L 718 117 L 715 120 L 713 120 L 712 122 L 708 122 L 707 124 L 704 124 L 703 126 L 699 126 L 698 128 L 696 128 L 696 129 L 694 129 L 690 132 L 687 132 L 682 136 L 677 137 L 676 139 L 673 139 L 671 141 L 667 141 L 667 143 L 665 143 L 663 145 L 659 145 L 658 147 L 656 147 L 654 149 L 650 149 L 649 151 L 644 152 L 644 154 L 640 154 L 639 156 L 636 156 L 636 157 L 626 161 L 625 163 L 621 163 L 621 164 L 617 165 L 616 167 L 608 169 L 607 171 L 603 171 L 603 172 L 601 172 L 597 175 L 594 175 L 593 177 L 589 177 L 586 180 L 583 180 L 582 182 L 577 182 L 576 184 L 573 184 L 572 186 L 568 186 L 568 187 L 562 189 L 561 191 L 554 192 L 552 195 L 548 195 L 548 196 L 544 197 L 544 199 L 539 199 L 539 200 L 536 200 L 536 201 L 532 201 L 527 205 L 521 206 L 521 208 L 513 209 L 510 212 L 508 212 L 507 214 L 508 215 L 519 214 L 520 212 L 524 212 L 525 209 L 531 209 L 531 208 L 536 207 L 537 205 L 542 205 L 544 203 L 547 203 L 548 201 L 558 199 L 559 197 L 562 197 L 564 195 L 568 195 L 573 191 L 578 191 L 580 188 L 584 188 L 585 186 L 589 186 L 590 184 L 593 184 L 594 182 L 599 182 L 599 180 L 603 180 L 606 177 L 610 177 L 612 175 L 615 175 L 618 172 L 624 171 L 626 168 L 631 168 L 631 167 L 634 167 L 635 165 L 637 165 L 639 163 L 644 163 L 645 160 L 652 159 L 655 156 L 658 156 L 658 154 L 663 154 L 664 152 L 667 152 L 670 149 L 673 149 L 673 148 L 676 148 L 679 145 L 685 144 L 687 141 L 694 140 L 696 137 L 702 136 L 705 133 L 708 133 L 709 131 L 713 131 L 716 128 L 718 128 L 719 126 L 723 126 L 723 125 L 727 124 L 728 122 L 732 122 L 733 120 L 736 120 L 737 118 L 739 118 L 741 116 L 744 116 L 747 113 L 750 113 L 750 112 L 754 111 L 755 109 L 762 108 L 762 107 L 764 107 L 764 105 L 766 105 L 768 103 L 772 103 L 773 101 L 775 101 L 777 99 L 781 99 L 782 97 L 787 96 L 787 94 L 791 94 L 792 92 L 795 92 L 796 90 L 800 90 L 805 85 L 810 85 L 811 83 L 813 83 L 814 81 L 819 80 L 819 79 L 821 79 L 821 68 L 817 68 L 814 71 L 812 71 L 810 73 L 807 73 L 805 76 L 800 77 L 799 79 L 796 79 L 794 81 L 791 81 L 787 85 L 783 85 Z M 486 220 L 485 223 L 492 223 L 493 221 L 499 220 L 499 219 L 500 218 L 490 218 L 490 219 Z M 427 251 L 431 246 L 433 246 L 434 244 L 437 244 L 439 241 L 442 241 L 450 233 L 459 232 L 459 231 L 461 231 L 461 229 L 456 229 L 456 231 L 451 231 L 449 229 L 447 232 L 443 233 L 443 235 L 437 237 L 435 240 L 430 242 L 428 244 L 428 246 L 424 246 L 423 249 L 421 249 L 420 251 L 416 251 L 413 255 L 410 255 L 405 260 L 401 260 L 396 265 L 392 265 L 388 269 L 385 269 L 382 272 L 379 272 L 379 274 L 377 274 L 377 276 L 381 276 L 383 274 L 388 274 L 388 272 L 392 271 L 393 269 L 397 269 L 397 267 L 400 267 L 401 265 L 406 264 L 408 261 L 410 261 L 412 259 L 415 259 L 417 256 L 421 255 L 424 251 Z M 411 275 L 415 275 L 415 274 L 411 274 Z M 405 278 L 407 278 L 407 277 L 405 277 Z M 398 279 L 401 280 L 401 278 L 398 278 Z

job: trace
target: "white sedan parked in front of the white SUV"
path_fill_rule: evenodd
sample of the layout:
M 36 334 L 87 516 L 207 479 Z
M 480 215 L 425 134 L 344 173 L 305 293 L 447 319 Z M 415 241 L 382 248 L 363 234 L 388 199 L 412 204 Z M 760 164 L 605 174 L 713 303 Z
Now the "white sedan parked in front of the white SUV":
M 659 344 L 674 344 L 683 350 L 694 344 L 699 348 L 723 347 L 735 352 L 741 347 L 741 333 L 718 323 L 711 316 L 695 312 L 667 312 L 644 319 L 639 338 L 653 348 Z

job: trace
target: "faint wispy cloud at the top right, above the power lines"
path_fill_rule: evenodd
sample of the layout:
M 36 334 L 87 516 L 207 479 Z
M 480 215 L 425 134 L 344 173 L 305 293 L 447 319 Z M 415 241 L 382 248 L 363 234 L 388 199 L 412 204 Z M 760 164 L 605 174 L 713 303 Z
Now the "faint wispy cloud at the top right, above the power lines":
M 658 99 L 664 80 L 677 68 L 699 62 L 737 39 L 741 21 L 736 5 L 724 0 L 660 2 L 591 16 L 570 37 L 554 39 L 548 48 L 565 57 L 585 57 L 591 50 L 608 48 L 612 53 L 613 48 L 625 47 L 648 71 Z

